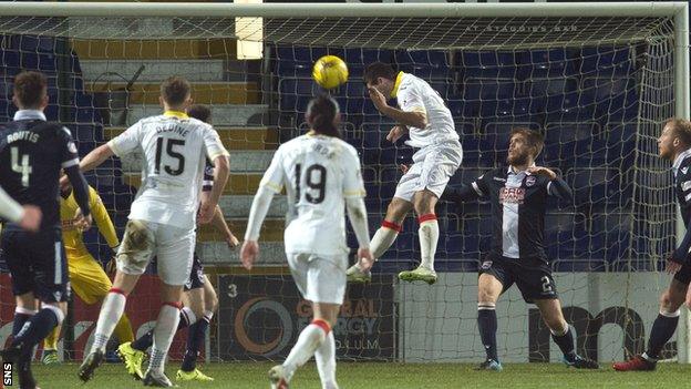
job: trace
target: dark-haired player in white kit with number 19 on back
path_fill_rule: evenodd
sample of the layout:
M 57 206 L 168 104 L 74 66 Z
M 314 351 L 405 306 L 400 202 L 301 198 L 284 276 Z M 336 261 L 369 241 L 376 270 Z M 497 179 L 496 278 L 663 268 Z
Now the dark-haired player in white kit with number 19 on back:
M 259 254 L 257 239 L 271 198 L 286 187 L 286 256 L 300 294 L 312 304 L 314 317 L 300 332 L 286 361 L 269 370 L 274 389 L 287 389 L 297 368 L 312 355 L 322 388 L 338 388 L 331 328 L 346 294 L 344 208 L 360 245 L 360 267 L 367 270 L 373 263 L 360 160 L 355 150 L 340 140 L 338 103 L 328 96 L 316 98 L 306 119 L 310 132 L 282 144 L 261 180 L 240 252 L 243 265 L 251 268 Z

